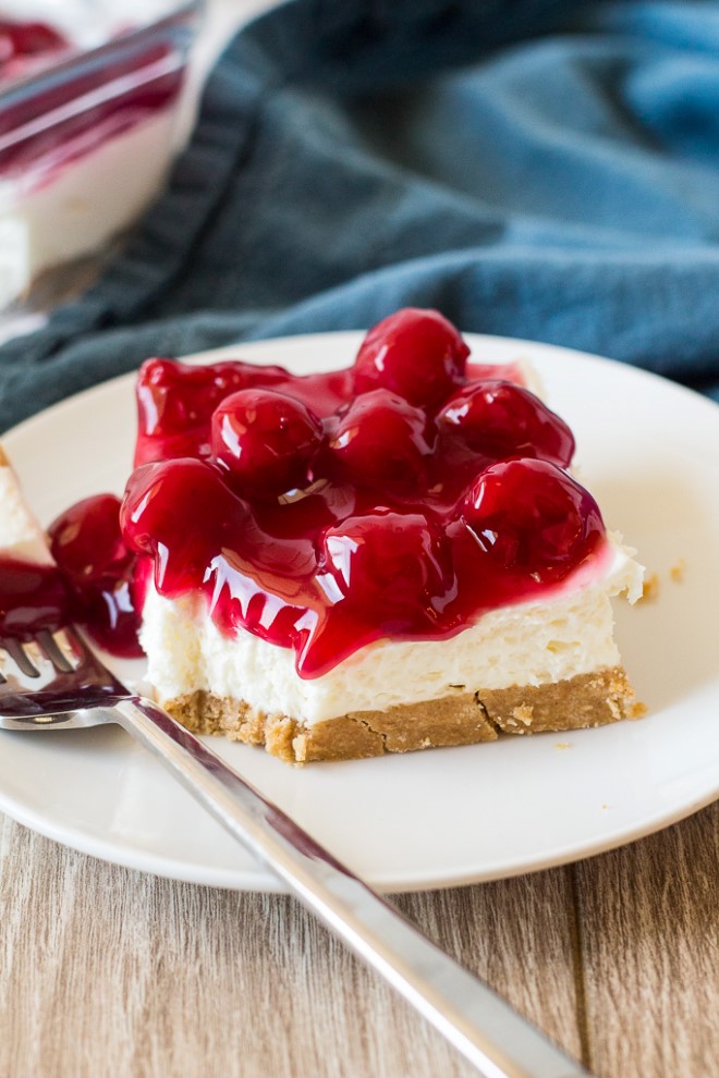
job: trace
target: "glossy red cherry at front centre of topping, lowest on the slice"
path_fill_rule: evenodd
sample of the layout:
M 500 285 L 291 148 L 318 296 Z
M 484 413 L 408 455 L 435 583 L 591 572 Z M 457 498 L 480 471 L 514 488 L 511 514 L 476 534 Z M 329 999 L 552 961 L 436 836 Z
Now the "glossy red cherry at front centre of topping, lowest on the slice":
M 355 609 L 366 603 L 369 620 L 381 608 L 398 610 L 407 622 L 432 617 L 432 599 L 453 580 L 447 540 L 424 513 L 379 507 L 326 528 L 320 536 L 320 561 L 334 576 Z

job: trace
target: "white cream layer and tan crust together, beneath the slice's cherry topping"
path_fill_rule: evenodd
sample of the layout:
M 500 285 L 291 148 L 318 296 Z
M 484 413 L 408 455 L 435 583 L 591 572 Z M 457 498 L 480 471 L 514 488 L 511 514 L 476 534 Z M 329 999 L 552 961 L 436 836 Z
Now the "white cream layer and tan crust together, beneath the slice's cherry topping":
M 191 730 L 289 761 L 346 759 L 633 718 L 609 602 L 622 591 L 636 599 L 641 573 L 612 543 L 595 579 L 551 601 L 491 611 L 448 640 L 376 641 L 315 678 L 289 649 L 229 635 L 202 600 L 154 587 L 142 641 L 159 699 Z

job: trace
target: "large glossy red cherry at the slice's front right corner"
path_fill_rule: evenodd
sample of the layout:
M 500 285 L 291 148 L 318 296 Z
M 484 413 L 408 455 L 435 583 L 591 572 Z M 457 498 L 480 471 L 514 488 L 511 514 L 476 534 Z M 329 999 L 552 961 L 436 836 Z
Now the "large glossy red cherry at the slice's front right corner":
M 604 536 L 588 491 L 547 461 L 486 468 L 467 490 L 462 515 L 486 554 L 539 583 L 562 579 Z

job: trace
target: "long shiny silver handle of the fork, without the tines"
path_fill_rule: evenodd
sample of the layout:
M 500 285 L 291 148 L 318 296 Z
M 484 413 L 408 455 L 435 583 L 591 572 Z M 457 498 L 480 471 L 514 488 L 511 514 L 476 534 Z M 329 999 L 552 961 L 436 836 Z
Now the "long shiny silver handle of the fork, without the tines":
M 486 1078 L 592 1078 L 150 700 L 108 713 Z

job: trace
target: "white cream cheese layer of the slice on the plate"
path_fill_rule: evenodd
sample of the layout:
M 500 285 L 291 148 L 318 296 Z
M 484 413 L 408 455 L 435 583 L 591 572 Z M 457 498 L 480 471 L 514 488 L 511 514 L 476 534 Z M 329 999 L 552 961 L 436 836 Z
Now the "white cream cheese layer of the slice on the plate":
M 644 569 L 617 538 L 601 575 L 578 580 L 553 600 L 491 611 L 448 640 L 381 640 L 321 677 L 305 679 L 294 652 L 242 630 L 226 637 L 204 603 L 169 600 L 150 586 L 142 642 L 158 698 L 198 689 L 246 701 L 308 725 L 349 711 L 539 685 L 619 664 L 610 596 L 642 593 Z

